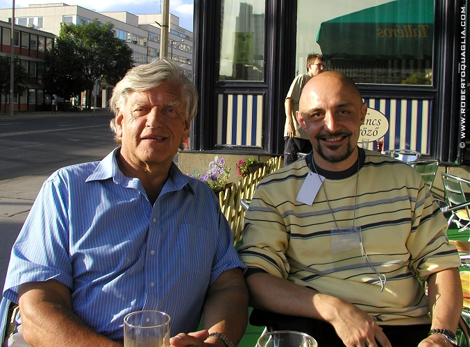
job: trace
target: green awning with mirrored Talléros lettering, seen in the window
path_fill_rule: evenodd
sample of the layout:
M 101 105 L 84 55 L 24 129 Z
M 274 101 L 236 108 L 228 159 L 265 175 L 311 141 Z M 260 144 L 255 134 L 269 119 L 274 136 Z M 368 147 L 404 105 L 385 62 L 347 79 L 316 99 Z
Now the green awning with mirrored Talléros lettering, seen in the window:
M 326 59 L 431 59 L 434 0 L 397 0 L 321 23 Z

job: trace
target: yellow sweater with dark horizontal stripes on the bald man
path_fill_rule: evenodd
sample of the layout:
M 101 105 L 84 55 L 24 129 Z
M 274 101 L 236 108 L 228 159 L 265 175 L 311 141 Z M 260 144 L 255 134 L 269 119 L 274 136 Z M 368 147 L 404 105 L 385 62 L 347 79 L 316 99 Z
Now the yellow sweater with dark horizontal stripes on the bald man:
M 419 174 L 408 164 L 365 151 L 359 177 L 326 179 L 325 189 L 306 205 L 296 196 L 309 173 L 299 160 L 262 180 L 246 212 L 239 248 L 244 263 L 342 298 L 379 324 L 429 323 L 417 278 L 459 266 L 460 259 Z M 339 228 L 353 226 L 355 213 L 367 259 L 355 245 L 346 245 L 344 252 L 332 246 L 332 211 Z M 383 291 L 379 276 L 386 278 Z

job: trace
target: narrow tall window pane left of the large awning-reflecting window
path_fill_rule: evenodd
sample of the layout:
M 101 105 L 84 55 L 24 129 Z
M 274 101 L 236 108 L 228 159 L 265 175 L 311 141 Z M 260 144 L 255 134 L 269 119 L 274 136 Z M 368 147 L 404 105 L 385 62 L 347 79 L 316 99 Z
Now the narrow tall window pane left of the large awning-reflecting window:
M 219 81 L 263 81 L 265 0 L 222 0 Z

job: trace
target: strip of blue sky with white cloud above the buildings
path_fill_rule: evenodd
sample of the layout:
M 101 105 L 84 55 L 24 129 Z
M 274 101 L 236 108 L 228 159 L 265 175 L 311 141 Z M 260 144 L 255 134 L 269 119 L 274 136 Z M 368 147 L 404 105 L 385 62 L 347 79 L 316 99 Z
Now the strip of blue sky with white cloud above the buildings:
M 13 0 L 0 0 L 0 8 L 12 8 Z M 96 12 L 127 11 L 134 15 L 160 13 L 160 0 L 15 0 L 15 8 L 28 7 L 37 3 L 67 3 Z M 169 0 L 169 12 L 180 18 L 180 26 L 189 31 L 192 28 L 193 0 Z

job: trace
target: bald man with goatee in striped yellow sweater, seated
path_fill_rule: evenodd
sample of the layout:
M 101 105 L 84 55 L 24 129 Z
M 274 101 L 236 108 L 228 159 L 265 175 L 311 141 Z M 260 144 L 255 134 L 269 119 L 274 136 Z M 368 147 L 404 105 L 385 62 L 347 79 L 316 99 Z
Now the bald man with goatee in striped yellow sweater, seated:
M 342 74 L 305 85 L 313 151 L 262 180 L 246 212 L 251 323 L 321 347 L 451 346 L 462 288 L 446 219 L 417 171 L 358 147 L 366 112 Z

